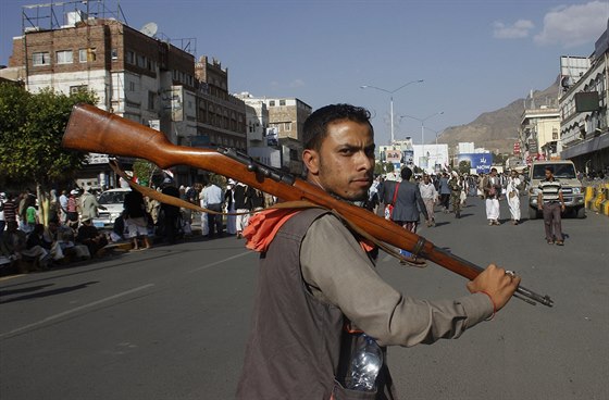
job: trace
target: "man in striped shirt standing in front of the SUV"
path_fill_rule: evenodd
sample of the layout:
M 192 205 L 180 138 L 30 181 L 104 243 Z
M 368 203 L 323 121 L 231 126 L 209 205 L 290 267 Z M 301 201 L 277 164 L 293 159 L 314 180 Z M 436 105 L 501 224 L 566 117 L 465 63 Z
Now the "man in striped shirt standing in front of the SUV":
M 551 165 L 546 166 L 546 178 L 539 183 L 537 207 L 544 212 L 548 245 L 556 242 L 558 246 L 563 246 L 560 213 L 564 212 L 564 199 L 562 198 L 562 185 L 555 179 Z

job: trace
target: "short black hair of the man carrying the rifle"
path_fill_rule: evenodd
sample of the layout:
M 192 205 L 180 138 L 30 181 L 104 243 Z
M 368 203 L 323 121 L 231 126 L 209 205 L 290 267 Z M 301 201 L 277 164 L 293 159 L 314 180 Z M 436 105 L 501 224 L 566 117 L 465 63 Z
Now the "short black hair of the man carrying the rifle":
M 351 104 L 331 104 L 318 109 L 304 121 L 302 126 L 304 149 L 319 151 L 322 140 L 327 135 L 327 125 L 340 120 L 368 124 L 370 125 L 371 133 L 374 135 L 374 129 L 370 123 L 370 111 Z

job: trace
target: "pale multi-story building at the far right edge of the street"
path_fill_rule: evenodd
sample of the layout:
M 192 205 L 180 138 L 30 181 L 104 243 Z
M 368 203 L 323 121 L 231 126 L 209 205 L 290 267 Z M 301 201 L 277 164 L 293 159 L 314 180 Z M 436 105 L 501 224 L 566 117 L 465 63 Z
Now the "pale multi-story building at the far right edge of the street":
M 561 58 L 561 158 L 579 171 L 609 167 L 609 21 L 589 58 Z

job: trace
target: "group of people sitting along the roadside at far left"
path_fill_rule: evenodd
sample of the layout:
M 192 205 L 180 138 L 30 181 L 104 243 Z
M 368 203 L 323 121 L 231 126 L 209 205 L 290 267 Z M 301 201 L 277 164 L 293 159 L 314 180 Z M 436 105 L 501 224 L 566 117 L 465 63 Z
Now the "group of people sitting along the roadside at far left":
M 108 245 L 105 235 L 90 220 L 75 230 L 69 225 L 49 222 L 36 224 L 29 234 L 9 222 L 0 238 L 0 267 L 18 272 L 48 270 L 59 264 L 96 257 Z

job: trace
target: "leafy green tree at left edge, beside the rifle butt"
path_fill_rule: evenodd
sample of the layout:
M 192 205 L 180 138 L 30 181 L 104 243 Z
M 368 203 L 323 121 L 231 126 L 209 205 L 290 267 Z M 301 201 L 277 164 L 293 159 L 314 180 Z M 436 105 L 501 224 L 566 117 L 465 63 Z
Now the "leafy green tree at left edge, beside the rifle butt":
M 61 147 L 72 107 L 95 104 L 92 91 L 70 96 L 50 88 L 30 93 L 14 84 L 0 84 L 0 180 L 33 183 L 45 201 L 45 192 L 58 182 L 73 177 L 85 163 L 85 154 Z M 45 205 L 42 204 L 45 217 Z M 45 218 L 46 221 L 46 218 Z

